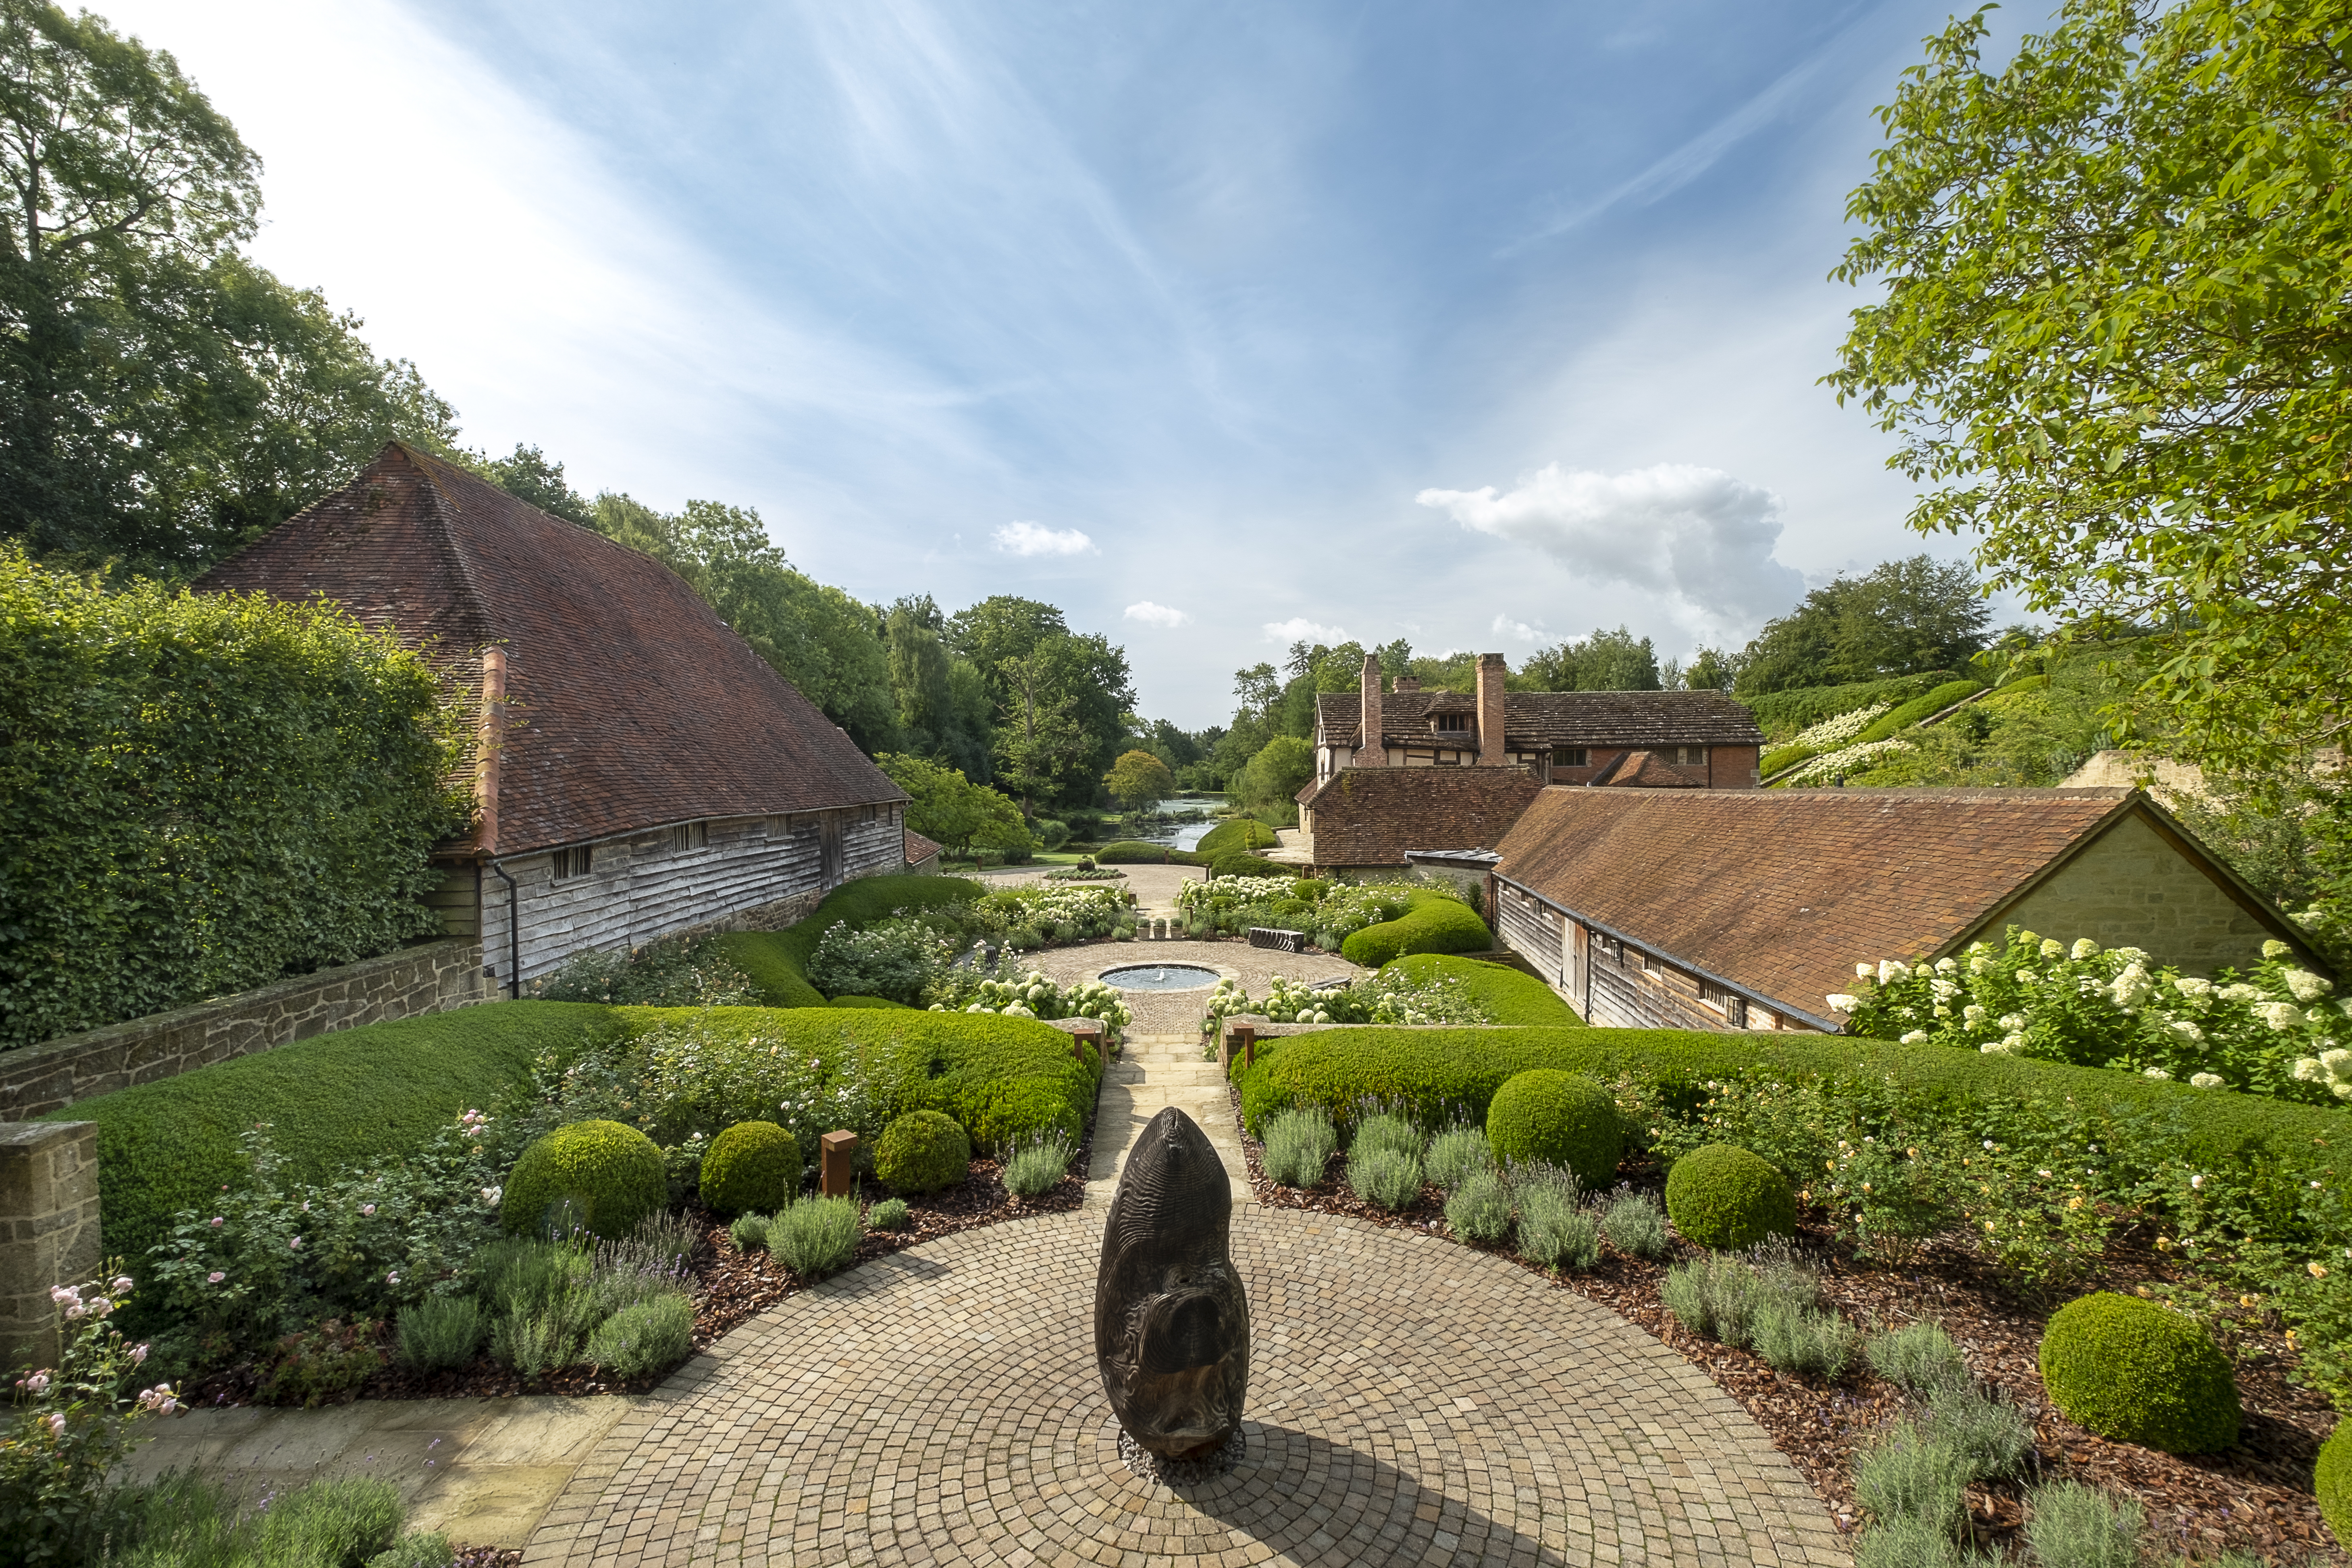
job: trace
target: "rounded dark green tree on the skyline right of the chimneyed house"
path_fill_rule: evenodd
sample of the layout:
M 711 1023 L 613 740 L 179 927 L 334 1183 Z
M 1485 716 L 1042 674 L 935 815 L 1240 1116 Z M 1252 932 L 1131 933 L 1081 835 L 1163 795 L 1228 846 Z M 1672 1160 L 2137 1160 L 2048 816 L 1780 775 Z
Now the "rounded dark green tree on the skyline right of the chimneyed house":
M 1962 670 L 1985 649 L 1990 623 L 1992 609 L 1964 562 L 1882 562 L 1766 621 L 1740 651 L 1740 693 Z

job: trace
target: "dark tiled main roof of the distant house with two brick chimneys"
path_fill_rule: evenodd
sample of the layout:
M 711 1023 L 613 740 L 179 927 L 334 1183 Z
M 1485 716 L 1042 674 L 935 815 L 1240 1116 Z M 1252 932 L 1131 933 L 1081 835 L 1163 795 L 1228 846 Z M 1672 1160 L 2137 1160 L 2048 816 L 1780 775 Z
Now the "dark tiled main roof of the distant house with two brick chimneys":
M 1381 729 L 1390 745 L 1430 745 L 1430 715 L 1465 712 L 1468 691 L 1388 691 Z M 1315 698 L 1322 745 L 1359 745 L 1364 698 L 1324 691 Z M 1505 691 L 1503 745 L 1538 752 L 1555 745 L 1764 745 L 1743 703 L 1722 691 Z

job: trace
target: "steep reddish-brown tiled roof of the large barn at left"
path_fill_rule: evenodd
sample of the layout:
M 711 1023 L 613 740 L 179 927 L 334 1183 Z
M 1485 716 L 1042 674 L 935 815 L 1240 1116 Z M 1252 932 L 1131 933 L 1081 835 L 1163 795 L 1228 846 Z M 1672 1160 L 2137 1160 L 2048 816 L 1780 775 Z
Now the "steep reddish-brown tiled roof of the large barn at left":
M 397 442 L 198 588 L 327 595 L 475 693 L 501 644 L 492 853 L 906 799 L 668 567 Z

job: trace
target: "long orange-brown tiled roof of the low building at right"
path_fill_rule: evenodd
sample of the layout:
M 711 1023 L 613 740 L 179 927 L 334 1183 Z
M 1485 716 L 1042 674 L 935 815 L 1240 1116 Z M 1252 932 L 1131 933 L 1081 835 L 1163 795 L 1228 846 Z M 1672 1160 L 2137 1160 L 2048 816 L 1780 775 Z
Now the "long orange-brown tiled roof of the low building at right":
M 1818 1018 L 1856 961 L 1945 950 L 2138 799 L 1555 785 L 1503 839 L 1501 875 Z

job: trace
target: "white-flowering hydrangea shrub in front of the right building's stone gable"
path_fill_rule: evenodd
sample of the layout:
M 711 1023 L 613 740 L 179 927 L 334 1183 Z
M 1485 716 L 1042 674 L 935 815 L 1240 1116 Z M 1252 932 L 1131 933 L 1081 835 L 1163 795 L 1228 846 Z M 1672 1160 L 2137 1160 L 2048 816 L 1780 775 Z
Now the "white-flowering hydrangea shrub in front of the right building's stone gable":
M 2265 943 L 2251 973 L 2218 980 L 2009 929 L 1936 964 L 1856 964 L 1853 992 L 1828 997 L 1856 1034 L 2117 1067 L 2197 1088 L 2288 1100 L 2352 1100 L 2352 1004 L 2326 976 Z

